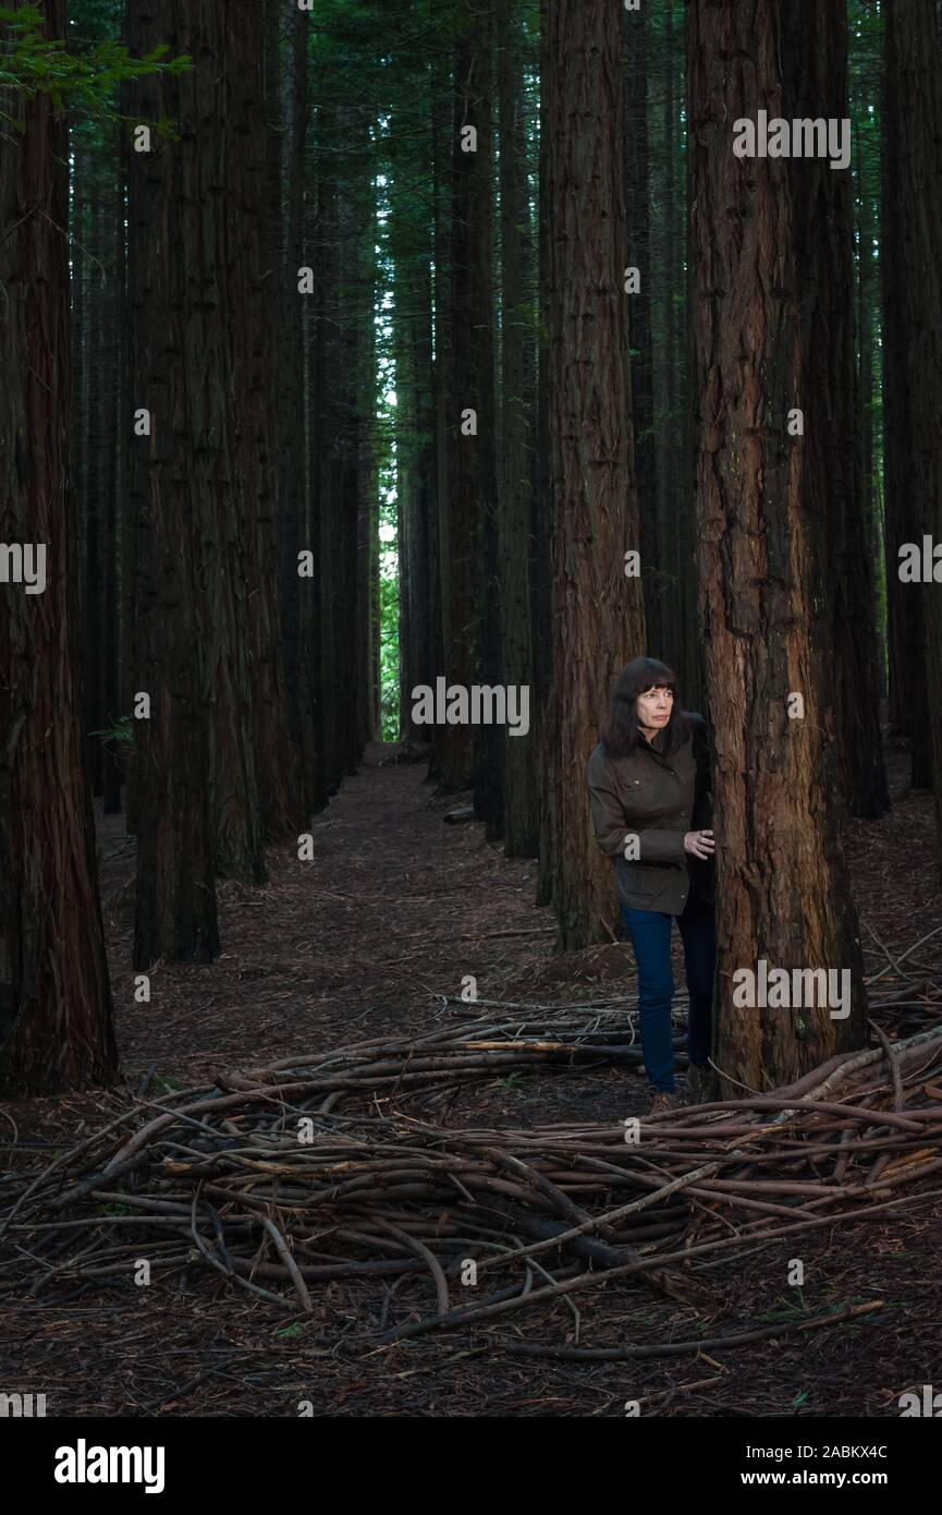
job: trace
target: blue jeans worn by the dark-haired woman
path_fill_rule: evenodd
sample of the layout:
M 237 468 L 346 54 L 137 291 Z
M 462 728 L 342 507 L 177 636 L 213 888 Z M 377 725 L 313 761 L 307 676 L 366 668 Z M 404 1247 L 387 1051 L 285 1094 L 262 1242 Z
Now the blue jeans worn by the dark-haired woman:
M 635 947 L 638 964 L 638 1011 L 644 1065 L 656 1089 L 674 1092 L 674 1042 L 671 1036 L 671 921 L 663 911 L 636 911 L 622 904 L 621 918 Z M 683 915 L 677 917 L 683 938 L 683 959 L 691 994 L 688 1012 L 688 1056 L 703 1067 L 710 1056 L 710 1014 L 713 1007 L 713 968 L 716 935 L 713 909 L 688 895 Z

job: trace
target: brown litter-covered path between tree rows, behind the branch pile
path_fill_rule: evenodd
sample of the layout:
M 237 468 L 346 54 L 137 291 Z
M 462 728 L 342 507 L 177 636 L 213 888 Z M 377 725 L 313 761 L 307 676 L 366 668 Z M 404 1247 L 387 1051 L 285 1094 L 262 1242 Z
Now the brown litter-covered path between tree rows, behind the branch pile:
M 482 826 L 445 824 L 444 815 L 471 797 L 436 795 L 426 765 L 392 764 L 395 751 L 373 744 L 359 773 L 315 817 L 310 862 L 283 845 L 270 851 L 265 888 L 218 886 L 218 962 L 156 967 L 148 1004 L 135 1003 L 129 967 L 133 842 L 124 841 L 120 817 L 103 824 L 101 892 L 132 1088 L 148 1073 L 156 1086 L 198 1083 L 221 1067 L 265 1065 L 391 1032 L 407 1038 L 436 1024 L 441 997 L 460 994 L 465 976 L 477 980 L 479 1000 L 585 1003 L 635 992 L 627 945 L 554 954 L 553 912 L 533 904 L 536 862 L 506 859 Z M 526 1117 L 521 1100 L 526 1106 L 530 1097 L 559 1107 L 559 1117 L 545 1118 L 560 1120 L 572 1107 L 601 1120 L 647 1103 L 633 1073 L 566 1074 L 565 1089 L 556 1082 L 550 1077 L 538 1095 L 521 1089 L 506 1114 Z M 462 1094 L 462 1107 L 471 1097 Z M 503 1104 L 498 1098 L 491 1114 Z M 541 1118 L 536 1109 L 532 1118 Z

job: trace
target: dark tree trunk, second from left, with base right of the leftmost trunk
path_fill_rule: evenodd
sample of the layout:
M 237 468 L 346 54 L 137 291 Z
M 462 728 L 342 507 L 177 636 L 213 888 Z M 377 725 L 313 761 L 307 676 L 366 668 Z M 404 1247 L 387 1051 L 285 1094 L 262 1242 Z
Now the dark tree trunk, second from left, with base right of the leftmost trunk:
M 177 0 L 161 0 L 147 14 L 129 0 L 129 47 L 141 55 L 167 42 L 173 53 L 192 52 L 192 38 L 180 23 Z M 186 120 L 189 102 L 174 79 L 144 79 L 129 97 L 132 114 L 145 120 Z M 124 424 L 138 535 L 133 697 L 150 697 L 150 718 L 135 723 L 136 968 L 158 957 L 206 962 L 218 954 L 207 721 L 198 664 L 204 624 L 197 608 L 206 583 L 220 576 L 220 554 L 207 547 L 215 511 L 206 468 L 217 464 L 217 454 L 201 427 L 194 435 L 194 408 L 200 406 L 203 427 L 211 418 L 191 389 L 194 371 L 207 380 L 214 376 L 214 347 L 207 342 L 197 355 L 188 344 L 189 291 L 197 282 L 212 286 L 215 264 L 203 262 L 195 238 L 198 197 L 180 203 L 182 185 L 192 177 L 180 159 L 192 150 L 186 141 L 154 138 L 150 152 L 129 156 Z M 215 380 L 224 383 L 218 370 Z M 139 435 L 135 426 L 141 411 L 150 415 L 150 435 Z M 207 571 L 201 573 L 206 558 Z

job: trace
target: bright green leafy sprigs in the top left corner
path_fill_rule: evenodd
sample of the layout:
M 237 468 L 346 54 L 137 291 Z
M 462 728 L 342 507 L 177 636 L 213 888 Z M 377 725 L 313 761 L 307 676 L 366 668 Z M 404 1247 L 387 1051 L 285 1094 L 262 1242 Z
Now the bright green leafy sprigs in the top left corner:
M 95 121 L 123 120 L 115 106 L 120 85 L 150 74 L 180 74 L 192 67 L 183 53 L 167 59 L 167 42 L 161 42 L 144 58 L 132 58 L 124 42 L 97 39 L 67 50 L 62 38 L 45 36 L 45 17 L 32 5 L 0 8 L 5 26 L 5 47 L 0 52 L 0 89 L 32 100 L 47 94 L 58 111 L 77 112 Z M 14 130 L 23 132 L 23 121 L 0 111 Z M 170 121 L 151 123 L 156 130 L 173 135 Z

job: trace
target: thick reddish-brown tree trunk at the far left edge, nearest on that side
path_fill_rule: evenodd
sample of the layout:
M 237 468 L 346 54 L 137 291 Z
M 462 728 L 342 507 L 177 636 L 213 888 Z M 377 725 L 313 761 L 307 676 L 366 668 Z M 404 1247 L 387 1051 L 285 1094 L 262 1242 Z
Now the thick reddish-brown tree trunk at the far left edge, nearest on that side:
M 62 38 L 64 0 L 44 15 Z M 82 744 L 68 132 L 42 92 L 0 106 L 23 127 L 0 153 L 0 542 L 45 551 L 41 592 L 0 586 L 0 1092 L 17 1095 L 106 1082 L 118 1059 Z

